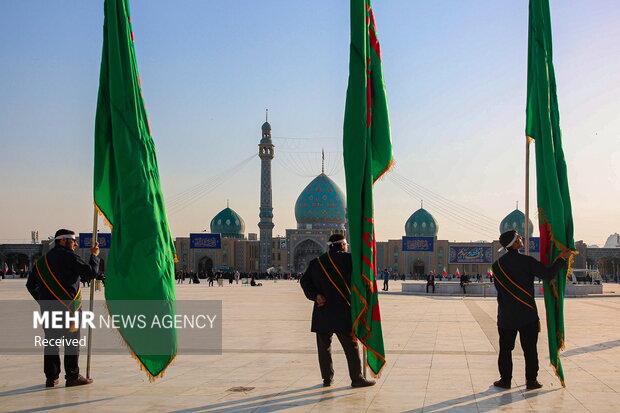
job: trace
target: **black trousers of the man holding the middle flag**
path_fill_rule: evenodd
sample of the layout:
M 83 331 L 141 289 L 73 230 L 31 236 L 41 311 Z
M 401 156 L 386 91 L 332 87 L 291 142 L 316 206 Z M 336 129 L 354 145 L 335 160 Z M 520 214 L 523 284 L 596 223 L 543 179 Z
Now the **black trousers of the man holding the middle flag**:
M 357 346 L 350 333 L 316 333 L 316 347 L 319 353 L 319 367 L 323 381 L 330 381 L 334 377 L 334 364 L 332 363 L 332 335 L 336 334 L 344 355 L 349 365 L 349 377 L 351 381 L 362 378 L 362 362 Z

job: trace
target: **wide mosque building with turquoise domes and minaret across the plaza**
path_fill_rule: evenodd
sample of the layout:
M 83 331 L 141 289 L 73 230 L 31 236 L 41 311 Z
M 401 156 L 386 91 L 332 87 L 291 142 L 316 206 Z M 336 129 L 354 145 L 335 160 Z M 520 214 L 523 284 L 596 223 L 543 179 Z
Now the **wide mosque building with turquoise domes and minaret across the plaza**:
M 284 237 L 272 236 L 273 206 L 271 161 L 274 158 L 271 125 L 261 126 L 259 235 L 245 234 L 245 222 L 228 205 L 211 220 L 204 233 L 220 234 L 219 248 L 192 248 L 189 237 L 175 241 L 179 263 L 177 270 L 204 273 L 208 270 L 240 272 L 304 272 L 313 258 L 327 250 L 329 236 L 346 235 L 346 198 L 338 185 L 325 174 L 316 176 L 301 190 L 295 202 L 297 228 L 286 229 Z M 530 221 L 530 233 L 533 225 Z M 525 216 L 515 209 L 500 224 L 499 233 L 516 229 L 525 233 Z M 448 274 L 457 271 L 471 275 L 485 274 L 499 256 L 499 241 L 450 242 L 437 238 L 439 224 L 421 207 L 405 222 L 404 237 L 377 242 L 379 268 L 398 274 L 423 276 L 431 271 Z M 534 251 L 536 249 L 534 248 Z M 538 253 L 533 252 L 537 257 Z M 538 257 L 537 257 L 538 258 Z

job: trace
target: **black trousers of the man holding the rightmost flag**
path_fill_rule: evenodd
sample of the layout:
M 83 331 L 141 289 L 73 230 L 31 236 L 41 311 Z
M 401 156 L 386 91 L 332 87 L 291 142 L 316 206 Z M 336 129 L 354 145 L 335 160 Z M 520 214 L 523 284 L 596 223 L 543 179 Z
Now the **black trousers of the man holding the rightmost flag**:
M 499 374 L 504 381 L 512 379 L 512 350 L 515 348 L 517 332 L 525 357 L 525 379 L 536 380 L 538 376 L 538 321 L 526 324 L 518 330 L 499 328 L 499 358 L 497 366 Z

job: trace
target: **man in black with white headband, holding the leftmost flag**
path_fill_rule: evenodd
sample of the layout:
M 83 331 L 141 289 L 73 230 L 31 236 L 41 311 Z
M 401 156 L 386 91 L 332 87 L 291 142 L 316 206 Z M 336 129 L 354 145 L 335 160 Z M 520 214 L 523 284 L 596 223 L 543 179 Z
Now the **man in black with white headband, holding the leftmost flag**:
M 37 260 L 26 282 L 30 295 L 39 302 L 41 311 L 69 309 L 67 303 L 80 303 L 80 280 L 92 280 L 99 270 L 99 243 L 90 249 L 90 261 L 86 264 L 75 252 L 75 232 L 67 229 L 56 231 L 54 248 Z M 79 311 L 79 305 L 71 310 Z M 46 339 L 79 337 L 77 329 L 44 328 Z M 80 375 L 78 367 L 79 346 L 65 346 L 66 386 L 90 384 L 92 379 Z M 60 375 L 60 353 L 56 345 L 45 346 L 43 356 L 45 386 L 54 387 Z

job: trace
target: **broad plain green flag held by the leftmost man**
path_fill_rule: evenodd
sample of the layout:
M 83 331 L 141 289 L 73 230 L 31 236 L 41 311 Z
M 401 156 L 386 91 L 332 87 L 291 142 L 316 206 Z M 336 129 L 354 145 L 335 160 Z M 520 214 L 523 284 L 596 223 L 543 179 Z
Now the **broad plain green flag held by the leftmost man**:
M 95 204 L 112 226 L 105 297 L 112 315 L 173 316 L 174 257 L 142 97 L 127 0 L 106 0 L 95 120 Z M 174 328 L 119 332 L 150 379 L 174 359 Z

